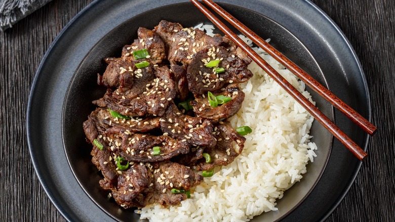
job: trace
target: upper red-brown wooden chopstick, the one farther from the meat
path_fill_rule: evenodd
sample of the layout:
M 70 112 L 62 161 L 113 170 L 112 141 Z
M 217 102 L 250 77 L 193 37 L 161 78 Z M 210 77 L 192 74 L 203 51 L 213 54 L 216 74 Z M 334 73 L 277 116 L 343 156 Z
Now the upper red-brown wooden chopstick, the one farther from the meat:
M 365 132 L 370 135 L 373 135 L 377 127 L 371 124 L 368 120 L 362 117 L 359 113 L 355 112 L 349 105 L 339 99 L 335 94 L 321 85 L 319 82 L 314 80 L 311 76 L 309 76 L 303 69 L 298 67 L 295 63 L 293 63 L 290 59 L 284 56 L 277 49 L 270 46 L 266 41 L 260 38 L 255 32 L 241 23 L 239 20 L 234 18 L 216 3 L 211 0 L 202 0 L 206 3 L 210 8 L 212 8 L 216 13 L 222 16 L 226 21 L 232 24 L 234 27 L 239 29 L 243 34 L 245 34 L 248 38 L 250 38 L 255 44 L 261 47 L 265 52 L 267 52 L 271 57 L 275 60 L 283 64 L 288 68 L 291 72 L 293 72 L 300 80 L 302 80 L 307 86 L 313 89 L 315 92 L 320 94 L 324 99 L 330 102 L 333 106 L 339 109 L 345 116 L 347 116 L 352 122 L 360 126 Z

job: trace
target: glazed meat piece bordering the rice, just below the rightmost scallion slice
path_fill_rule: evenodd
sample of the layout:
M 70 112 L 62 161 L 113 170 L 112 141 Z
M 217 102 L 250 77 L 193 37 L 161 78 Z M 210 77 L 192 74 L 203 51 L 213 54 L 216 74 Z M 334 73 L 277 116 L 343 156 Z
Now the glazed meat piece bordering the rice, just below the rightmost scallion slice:
M 222 124 L 221 124 L 222 123 Z M 214 128 L 217 138 L 215 147 L 206 147 L 204 153 L 211 156 L 211 163 L 206 163 L 205 159 L 200 159 L 197 164 L 199 171 L 209 170 L 215 166 L 225 166 L 233 162 L 234 158 L 242 153 L 246 138 L 236 132 L 229 122 L 220 122 Z M 235 143 L 236 146 L 233 146 Z

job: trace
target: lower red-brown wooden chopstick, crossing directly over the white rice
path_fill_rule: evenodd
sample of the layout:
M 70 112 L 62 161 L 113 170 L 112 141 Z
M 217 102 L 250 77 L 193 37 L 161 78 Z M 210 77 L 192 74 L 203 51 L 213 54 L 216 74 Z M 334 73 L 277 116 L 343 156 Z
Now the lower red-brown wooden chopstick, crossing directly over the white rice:
M 366 160 L 368 154 L 342 132 L 332 121 L 330 121 L 321 111 L 315 107 L 306 97 L 295 89 L 286 79 L 284 79 L 273 67 L 263 60 L 258 53 L 252 50 L 242 39 L 233 33 L 225 24 L 213 15 L 198 0 L 190 0 L 200 11 L 203 12 L 223 33 L 247 53 L 271 78 L 274 79 L 284 90 L 286 90 L 296 101 L 299 102 L 315 119 L 317 119 L 329 132 L 331 132 L 341 143 L 343 143 L 351 153 L 359 160 Z M 204 0 L 205 1 L 205 0 Z

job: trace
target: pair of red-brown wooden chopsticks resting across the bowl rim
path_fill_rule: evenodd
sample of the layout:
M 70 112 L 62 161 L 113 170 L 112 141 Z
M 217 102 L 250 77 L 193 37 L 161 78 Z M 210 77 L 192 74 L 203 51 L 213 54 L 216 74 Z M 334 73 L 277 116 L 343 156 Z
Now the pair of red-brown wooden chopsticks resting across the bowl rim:
M 237 44 L 244 52 L 247 53 L 271 78 L 280 84 L 296 101 L 298 101 L 315 119 L 317 119 L 329 132 L 331 132 L 341 143 L 343 143 L 351 153 L 361 161 L 366 160 L 368 154 L 352 141 L 343 131 L 341 131 L 332 121 L 328 119 L 321 111 L 315 107 L 306 97 L 304 97 L 297 89 L 295 89 L 286 79 L 284 79 L 273 67 L 271 67 L 265 60 L 263 60 L 253 49 L 243 42 L 235 33 L 233 33 L 224 23 L 214 16 L 206 7 L 204 7 L 198 0 L 190 0 L 200 11 L 203 12 L 223 33 Z M 220 6 L 211 0 L 203 0 L 216 13 L 221 15 L 226 21 L 239 29 L 243 34 L 250 38 L 255 44 L 266 51 L 270 56 L 278 62 L 287 67 L 307 86 L 317 92 L 320 96 L 329 101 L 333 106 L 340 110 L 345 116 L 351 119 L 355 124 L 360 126 L 365 132 L 373 135 L 377 128 L 367 121 L 360 114 L 355 112 L 350 106 L 345 104 L 341 99 L 334 95 L 327 88 L 315 81 L 305 71 L 299 68 L 295 63 L 281 54 L 279 51 L 270 46 L 266 41 L 261 39 L 247 26 L 242 24 L 239 20 L 227 13 Z

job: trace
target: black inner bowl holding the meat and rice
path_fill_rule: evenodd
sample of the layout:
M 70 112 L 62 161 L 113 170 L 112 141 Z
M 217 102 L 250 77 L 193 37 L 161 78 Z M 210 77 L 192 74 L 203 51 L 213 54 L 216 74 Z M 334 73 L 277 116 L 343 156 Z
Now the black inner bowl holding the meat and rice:
M 314 79 L 327 86 L 325 77 L 309 50 L 291 32 L 269 18 L 256 12 L 227 4 L 221 6 L 253 29 L 263 39 L 270 38 L 270 44 L 307 71 Z M 137 38 L 138 27 L 153 28 L 162 19 L 179 22 L 184 27 L 194 26 L 201 22 L 211 24 L 209 20 L 189 3 L 168 5 L 153 9 L 135 16 L 115 27 L 104 36 L 86 55 L 76 69 L 66 92 L 62 112 L 62 137 L 64 149 L 70 168 L 86 194 L 104 212 L 116 220 L 138 220 L 139 215 L 132 209 L 125 210 L 118 206 L 108 193 L 99 186 L 101 173 L 91 162 L 92 146 L 85 140 L 82 124 L 95 109 L 92 100 L 103 96 L 105 88 L 96 84 L 97 73 L 103 73 L 106 65 L 105 57 L 120 57 L 122 47 Z M 226 23 L 227 24 L 227 23 Z M 230 25 L 229 25 L 230 27 Z M 233 30 L 236 32 L 236 30 Z M 219 30 L 218 30 L 219 32 Z M 333 108 L 310 89 L 317 107 L 328 117 L 333 118 Z M 313 163 L 307 165 L 307 173 L 300 182 L 285 192 L 283 199 L 278 200 L 278 211 L 270 211 L 256 216 L 253 221 L 278 220 L 292 212 L 312 191 L 320 179 L 327 164 L 333 137 L 317 121 L 310 130 L 319 150 Z

